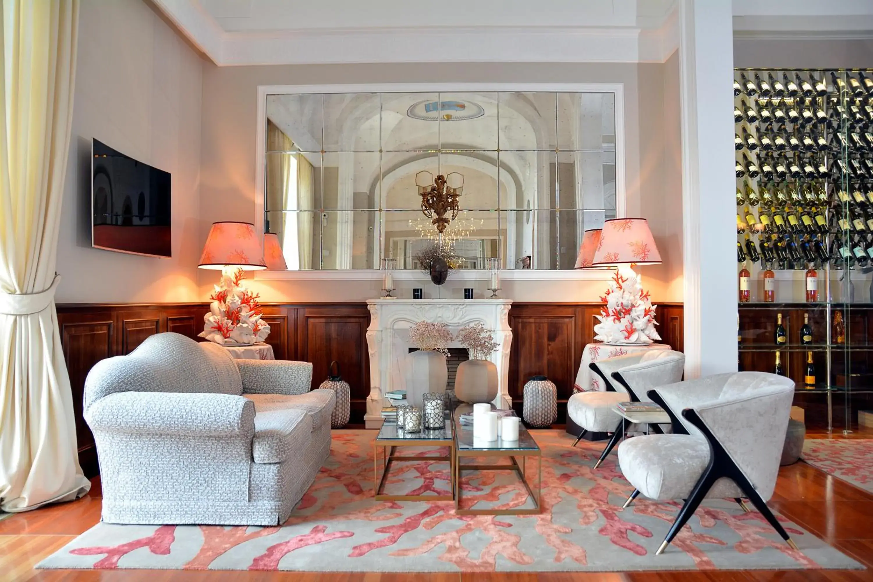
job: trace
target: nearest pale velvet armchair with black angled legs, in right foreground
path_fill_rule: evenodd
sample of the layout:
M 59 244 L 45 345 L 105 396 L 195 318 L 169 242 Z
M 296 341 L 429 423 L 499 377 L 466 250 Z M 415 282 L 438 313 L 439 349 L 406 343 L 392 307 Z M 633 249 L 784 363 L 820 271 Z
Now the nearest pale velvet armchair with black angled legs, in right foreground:
M 636 496 L 684 499 L 657 553 L 676 537 L 706 497 L 752 502 L 794 549 L 766 501 L 773 496 L 794 381 L 762 372 L 724 373 L 649 391 L 670 414 L 673 433 L 622 442 L 618 462 Z

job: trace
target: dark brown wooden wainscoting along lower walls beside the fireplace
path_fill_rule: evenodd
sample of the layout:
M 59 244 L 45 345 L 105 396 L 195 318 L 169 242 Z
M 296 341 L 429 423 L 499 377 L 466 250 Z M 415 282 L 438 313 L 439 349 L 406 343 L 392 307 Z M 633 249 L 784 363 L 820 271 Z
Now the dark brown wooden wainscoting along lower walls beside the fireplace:
M 82 419 L 82 395 L 91 367 L 100 359 L 130 353 L 158 332 L 182 333 L 191 339 L 203 330 L 208 304 L 58 305 L 58 322 L 72 384 L 79 438 L 79 460 L 86 473 L 97 471 L 93 436 Z M 558 387 L 559 419 L 566 417 L 582 349 L 594 340 L 599 304 L 516 303 L 509 313 L 513 331 L 509 391 L 521 412 L 527 379 L 544 374 Z M 361 424 L 369 386 L 367 305 L 270 304 L 264 306 L 271 326 L 267 341 L 277 359 L 313 363 L 313 388 L 327 378 L 334 359 L 352 389 L 352 422 Z M 682 349 L 682 305 L 658 306 L 659 332 L 665 343 Z M 860 327 L 860 325 L 859 325 Z

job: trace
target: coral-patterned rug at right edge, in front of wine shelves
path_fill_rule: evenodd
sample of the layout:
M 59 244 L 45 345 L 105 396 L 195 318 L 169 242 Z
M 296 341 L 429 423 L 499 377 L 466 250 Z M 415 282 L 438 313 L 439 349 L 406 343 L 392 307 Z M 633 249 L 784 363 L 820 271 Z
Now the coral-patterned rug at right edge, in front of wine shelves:
M 801 458 L 816 469 L 873 493 L 873 439 L 807 439 Z

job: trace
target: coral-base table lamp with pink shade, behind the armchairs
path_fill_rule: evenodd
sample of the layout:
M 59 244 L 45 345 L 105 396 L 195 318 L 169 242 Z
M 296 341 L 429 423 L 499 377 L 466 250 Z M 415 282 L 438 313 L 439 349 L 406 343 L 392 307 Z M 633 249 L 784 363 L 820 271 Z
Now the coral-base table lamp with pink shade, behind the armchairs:
M 588 232 L 586 232 L 588 234 Z M 584 246 L 585 239 L 582 239 Z M 661 336 L 655 331 L 655 305 L 643 292 L 633 265 L 660 264 L 661 254 L 645 218 L 613 218 L 603 223 L 592 267 L 615 267 L 615 277 L 601 300 L 595 339 L 628 346 L 650 344 Z

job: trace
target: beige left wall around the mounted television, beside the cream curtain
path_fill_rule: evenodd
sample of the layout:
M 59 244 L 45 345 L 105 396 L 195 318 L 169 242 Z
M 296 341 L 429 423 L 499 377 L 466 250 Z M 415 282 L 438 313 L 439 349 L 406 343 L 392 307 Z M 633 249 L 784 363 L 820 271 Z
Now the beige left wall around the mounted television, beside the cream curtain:
M 202 60 L 141 0 L 86 0 L 58 242 L 58 303 L 195 301 Z M 91 139 L 173 176 L 173 257 L 91 248 Z

